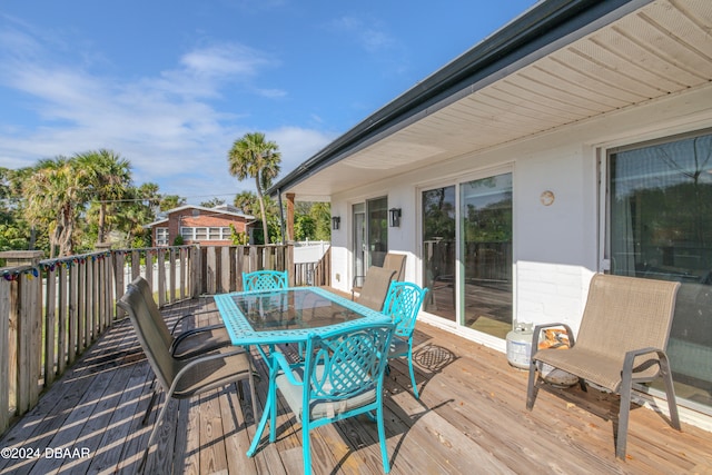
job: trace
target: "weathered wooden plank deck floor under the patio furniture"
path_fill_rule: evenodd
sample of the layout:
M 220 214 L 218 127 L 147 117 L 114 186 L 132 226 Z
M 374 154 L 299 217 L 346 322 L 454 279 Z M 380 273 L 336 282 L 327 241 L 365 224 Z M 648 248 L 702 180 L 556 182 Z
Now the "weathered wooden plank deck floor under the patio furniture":
M 197 306 L 184 303 L 164 314 L 170 319 Z M 526 373 L 505 355 L 425 324 L 416 344 L 421 400 L 409 390 L 405 364 L 393 363 L 386 383 L 393 474 L 712 473 L 710 433 L 685 424 L 678 433 L 666 417 L 639 408 L 631 412 L 629 457 L 621 462 L 613 444 L 616 397 L 577 387 L 540 390 L 527 412 Z M 151 382 L 130 323 L 118 323 L 0 438 L 0 473 L 136 473 L 159 409 L 142 425 Z M 257 393 L 261 407 L 266 377 Z M 146 473 L 301 473 L 299 425 L 284 407 L 277 443 L 245 456 L 255 433 L 249 403 L 234 385 L 171 402 Z M 322 427 L 312 441 L 316 474 L 382 473 L 376 427 L 366 418 Z

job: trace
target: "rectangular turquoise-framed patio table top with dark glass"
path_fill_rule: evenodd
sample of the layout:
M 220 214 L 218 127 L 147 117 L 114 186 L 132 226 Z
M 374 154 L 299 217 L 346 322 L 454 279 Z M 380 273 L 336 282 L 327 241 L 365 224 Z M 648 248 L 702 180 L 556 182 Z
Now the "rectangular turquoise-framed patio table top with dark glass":
M 307 335 L 390 317 L 319 287 L 219 294 L 215 296 L 233 345 L 305 343 Z M 261 349 L 260 349 L 261 352 Z

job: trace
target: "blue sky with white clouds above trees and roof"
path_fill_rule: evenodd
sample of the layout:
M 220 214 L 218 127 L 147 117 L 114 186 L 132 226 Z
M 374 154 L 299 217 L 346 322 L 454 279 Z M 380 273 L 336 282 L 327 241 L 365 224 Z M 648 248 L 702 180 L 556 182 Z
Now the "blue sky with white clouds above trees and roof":
M 254 189 L 235 139 L 281 176 L 534 0 L 2 0 L 0 167 L 108 148 L 190 204 Z

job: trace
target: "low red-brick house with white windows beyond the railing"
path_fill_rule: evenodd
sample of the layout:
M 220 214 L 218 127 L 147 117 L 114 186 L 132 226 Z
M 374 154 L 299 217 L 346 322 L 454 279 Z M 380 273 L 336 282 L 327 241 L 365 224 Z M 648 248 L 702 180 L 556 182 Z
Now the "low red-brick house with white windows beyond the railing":
M 215 208 L 202 206 L 180 206 L 166 211 L 166 218 L 147 225 L 151 229 L 154 246 L 171 246 L 178 236 L 184 244 L 228 246 L 230 225 L 237 232 L 251 230 L 254 216 L 244 215 L 234 206 L 219 205 Z

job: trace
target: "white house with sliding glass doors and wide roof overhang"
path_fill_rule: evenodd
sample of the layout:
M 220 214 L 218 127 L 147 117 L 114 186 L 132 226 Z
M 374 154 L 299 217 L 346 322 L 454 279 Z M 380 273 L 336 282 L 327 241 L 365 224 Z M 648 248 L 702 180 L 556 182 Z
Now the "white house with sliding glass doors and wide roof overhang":
M 333 287 L 406 254 L 422 318 L 502 352 L 576 330 L 595 273 L 682 281 L 676 390 L 712 427 L 711 31 L 710 0 L 537 2 L 269 192 L 330 201 Z

